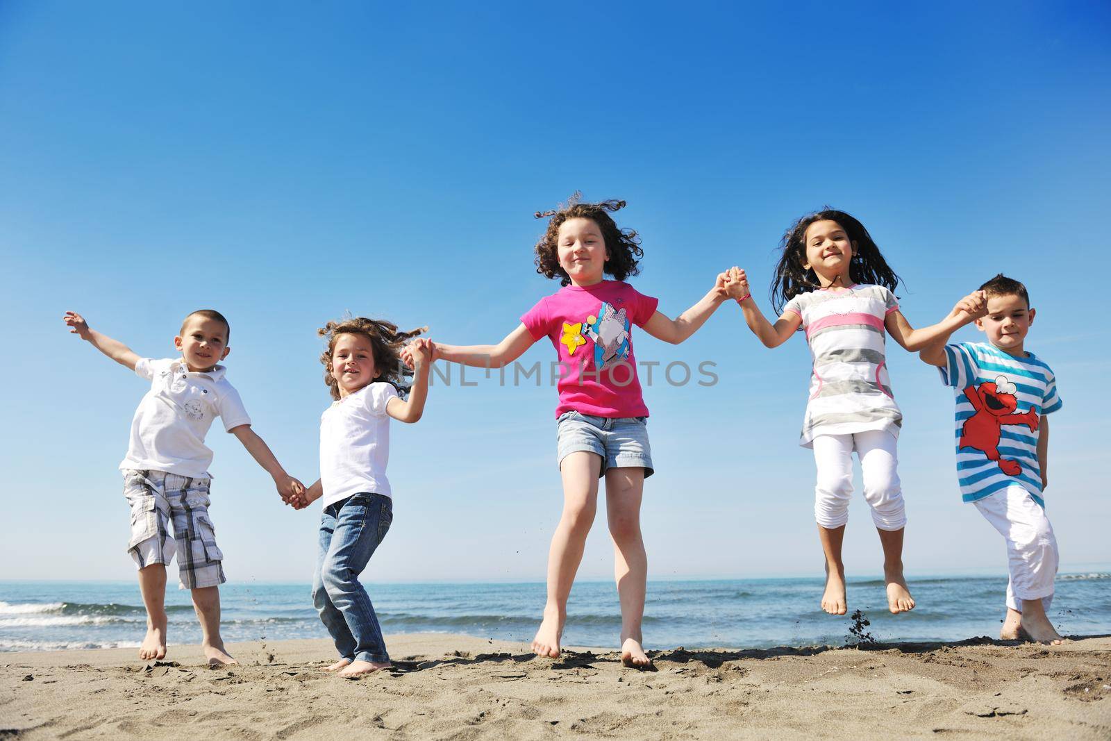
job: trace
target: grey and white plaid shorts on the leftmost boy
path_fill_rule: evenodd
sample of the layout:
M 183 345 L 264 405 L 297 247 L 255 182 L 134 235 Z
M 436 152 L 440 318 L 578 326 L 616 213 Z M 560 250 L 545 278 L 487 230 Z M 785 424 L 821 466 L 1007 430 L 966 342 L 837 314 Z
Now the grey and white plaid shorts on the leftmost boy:
M 208 514 L 209 481 L 166 471 L 123 471 L 123 495 L 131 505 L 128 552 L 136 568 L 169 564 L 177 552 L 181 589 L 227 581 Z M 172 538 L 168 520 L 173 522 Z

